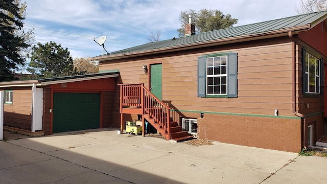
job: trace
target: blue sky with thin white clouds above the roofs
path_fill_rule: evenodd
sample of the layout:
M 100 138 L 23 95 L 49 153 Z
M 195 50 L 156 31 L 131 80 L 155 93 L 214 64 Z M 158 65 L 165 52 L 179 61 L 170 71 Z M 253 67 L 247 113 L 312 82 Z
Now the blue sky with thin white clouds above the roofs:
M 181 11 L 220 10 L 238 19 L 236 26 L 297 15 L 299 0 L 25 0 L 24 29 L 34 28 L 36 43 L 54 41 L 73 58 L 95 57 L 103 48 L 94 39 L 106 36 L 110 53 L 148 43 L 151 31 L 160 40 L 178 37 Z M 24 2 L 24 1 L 22 1 Z M 105 53 L 105 52 L 104 52 Z

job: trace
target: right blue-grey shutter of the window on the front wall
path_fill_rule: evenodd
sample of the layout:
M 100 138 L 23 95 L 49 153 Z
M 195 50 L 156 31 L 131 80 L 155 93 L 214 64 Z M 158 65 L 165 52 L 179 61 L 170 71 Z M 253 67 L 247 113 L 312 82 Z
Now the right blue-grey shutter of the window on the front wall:
M 237 97 L 237 53 L 227 55 L 227 97 Z

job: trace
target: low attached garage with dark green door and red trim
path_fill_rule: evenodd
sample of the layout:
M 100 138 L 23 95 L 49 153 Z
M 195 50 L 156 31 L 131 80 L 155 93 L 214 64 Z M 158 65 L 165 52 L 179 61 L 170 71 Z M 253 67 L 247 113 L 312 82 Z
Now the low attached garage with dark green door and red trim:
M 31 136 L 112 127 L 118 71 L 0 82 L 4 128 Z

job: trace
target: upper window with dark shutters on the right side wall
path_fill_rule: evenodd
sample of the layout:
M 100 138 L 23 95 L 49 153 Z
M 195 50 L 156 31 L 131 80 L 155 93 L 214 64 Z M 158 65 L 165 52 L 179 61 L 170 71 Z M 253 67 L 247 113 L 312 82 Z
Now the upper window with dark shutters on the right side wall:
M 323 84 L 323 64 L 322 59 L 307 53 L 302 49 L 302 93 L 322 94 L 320 85 Z

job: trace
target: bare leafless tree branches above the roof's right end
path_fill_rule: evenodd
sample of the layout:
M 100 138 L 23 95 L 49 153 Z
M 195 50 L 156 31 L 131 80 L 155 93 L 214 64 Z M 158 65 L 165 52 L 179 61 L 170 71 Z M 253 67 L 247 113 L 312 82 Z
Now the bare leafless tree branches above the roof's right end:
M 299 0 L 300 7 L 295 6 L 298 14 L 313 13 L 327 9 L 326 0 Z

